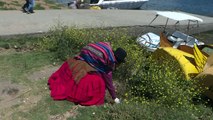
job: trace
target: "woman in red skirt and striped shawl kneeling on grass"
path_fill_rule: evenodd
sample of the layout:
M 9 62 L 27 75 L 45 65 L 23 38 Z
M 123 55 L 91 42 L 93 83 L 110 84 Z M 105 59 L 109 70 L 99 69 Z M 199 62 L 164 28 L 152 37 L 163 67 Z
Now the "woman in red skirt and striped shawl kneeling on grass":
M 80 54 L 63 63 L 53 73 L 48 85 L 54 100 L 68 100 L 90 106 L 104 104 L 105 89 L 119 103 L 112 82 L 112 71 L 125 62 L 126 52 L 122 48 L 113 51 L 107 42 L 91 43 Z

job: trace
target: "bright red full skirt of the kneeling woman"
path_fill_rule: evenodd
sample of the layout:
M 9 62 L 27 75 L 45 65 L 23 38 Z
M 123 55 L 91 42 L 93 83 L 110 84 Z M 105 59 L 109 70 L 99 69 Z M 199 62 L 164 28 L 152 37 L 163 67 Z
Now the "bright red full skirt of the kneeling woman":
M 87 73 L 78 84 L 72 77 L 67 62 L 53 73 L 49 80 L 50 95 L 54 100 L 68 100 L 90 106 L 104 104 L 105 82 L 98 73 Z

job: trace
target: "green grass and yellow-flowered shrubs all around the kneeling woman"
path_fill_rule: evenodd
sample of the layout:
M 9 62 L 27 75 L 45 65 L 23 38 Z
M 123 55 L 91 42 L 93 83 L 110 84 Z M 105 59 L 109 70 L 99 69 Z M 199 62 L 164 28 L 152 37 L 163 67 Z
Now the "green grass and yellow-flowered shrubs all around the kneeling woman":
M 39 81 L 27 76 L 44 66 L 61 63 L 74 56 L 90 42 L 107 41 L 112 47 L 123 47 L 128 56 L 126 63 L 115 71 L 121 104 L 98 107 L 79 107 L 67 101 L 53 101 L 47 89 L 47 78 Z M 20 98 L 41 98 L 35 104 L 20 103 L 0 111 L 0 115 L 12 111 L 10 119 L 46 120 L 66 117 L 68 120 L 212 120 L 213 109 L 207 104 L 196 81 L 187 81 L 179 65 L 172 58 L 155 61 L 151 54 L 128 36 L 123 28 L 77 29 L 55 27 L 39 37 L 21 36 L 0 40 L 0 47 L 15 50 L 0 52 L 0 77 L 22 83 L 32 90 Z M 0 81 L 1 82 L 1 81 Z M 23 109 L 25 108 L 25 109 Z M 68 115 L 66 114 L 68 113 Z

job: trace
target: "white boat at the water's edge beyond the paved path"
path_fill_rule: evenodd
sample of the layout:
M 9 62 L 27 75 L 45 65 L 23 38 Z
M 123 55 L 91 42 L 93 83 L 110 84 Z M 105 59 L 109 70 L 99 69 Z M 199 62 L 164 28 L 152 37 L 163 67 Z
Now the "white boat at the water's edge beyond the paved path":
M 90 6 L 101 9 L 140 9 L 148 0 L 91 0 Z

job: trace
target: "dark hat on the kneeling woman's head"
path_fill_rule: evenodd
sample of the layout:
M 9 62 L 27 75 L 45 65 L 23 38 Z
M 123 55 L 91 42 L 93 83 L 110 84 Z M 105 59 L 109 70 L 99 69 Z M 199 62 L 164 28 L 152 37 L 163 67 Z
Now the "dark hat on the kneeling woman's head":
M 125 62 L 125 57 L 127 56 L 127 53 L 124 49 L 122 48 L 117 48 L 114 51 L 115 59 L 117 60 L 118 63 L 124 63 Z

